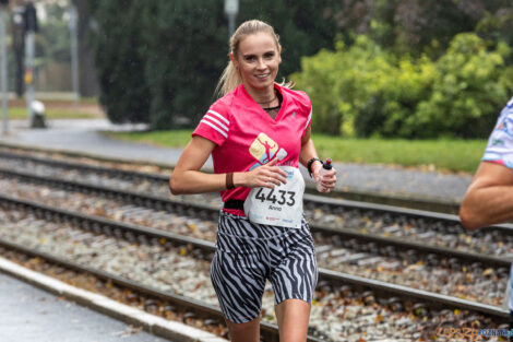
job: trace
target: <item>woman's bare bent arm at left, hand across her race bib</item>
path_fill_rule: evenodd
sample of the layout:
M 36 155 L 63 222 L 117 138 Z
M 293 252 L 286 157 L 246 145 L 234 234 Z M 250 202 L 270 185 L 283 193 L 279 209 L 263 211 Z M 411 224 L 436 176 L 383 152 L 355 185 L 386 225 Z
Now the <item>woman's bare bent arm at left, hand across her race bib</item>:
M 226 174 L 205 174 L 200 168 L 214 151 L 216 144 L 208 139 L 195 135 L 183 150 L 178 160 L 169 188 L 172 194 L 204 193 L 226 190 Z M 270 163 L 254 168 L 251 172 L 234 173 L 236 187 L 265 187 L 285 182 L 286 174 L 276 164 L 276 158 Z

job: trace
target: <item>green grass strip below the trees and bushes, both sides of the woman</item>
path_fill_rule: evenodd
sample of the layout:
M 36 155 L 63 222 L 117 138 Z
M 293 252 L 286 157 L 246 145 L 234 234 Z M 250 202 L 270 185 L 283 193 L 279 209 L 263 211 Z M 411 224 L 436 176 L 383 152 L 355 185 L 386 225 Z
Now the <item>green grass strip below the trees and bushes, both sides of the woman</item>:
M 110 137 L 167 148 L 183 148 L 191 130 L 109 133 Z M 393 164 L 405 167 L 474 173 L 485 151 L 486 140 L 343 139 L 313 134 L 321 157 L 336 162 Z

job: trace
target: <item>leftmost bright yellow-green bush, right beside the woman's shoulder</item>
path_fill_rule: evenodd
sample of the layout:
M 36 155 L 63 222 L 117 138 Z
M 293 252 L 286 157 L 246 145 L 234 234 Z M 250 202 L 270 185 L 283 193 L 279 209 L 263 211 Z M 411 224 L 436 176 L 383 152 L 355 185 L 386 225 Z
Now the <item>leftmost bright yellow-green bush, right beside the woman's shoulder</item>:
M 394 71 L 393 60 L 392 55 L 366 36 L 358 36 L 350 48 L 338 40 L 334 52 L 323 50 L 303 58 L 302 71 L 291 79 L 312 99 L 314 130 L 346 135 L 351 135 L 355 128 L 365 131 L 362 122 L 354 122 L 359 113 L 369 109 L 373 95 Z M 371 111 L 362 121 L 375 119 Z

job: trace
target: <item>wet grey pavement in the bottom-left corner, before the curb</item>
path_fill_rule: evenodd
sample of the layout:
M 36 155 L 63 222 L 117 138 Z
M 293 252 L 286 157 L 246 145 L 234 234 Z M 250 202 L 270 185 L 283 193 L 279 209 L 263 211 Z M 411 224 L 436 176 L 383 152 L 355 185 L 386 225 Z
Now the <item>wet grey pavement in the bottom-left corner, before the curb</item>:
M 164 342 L 0 273 L 0 341 Z

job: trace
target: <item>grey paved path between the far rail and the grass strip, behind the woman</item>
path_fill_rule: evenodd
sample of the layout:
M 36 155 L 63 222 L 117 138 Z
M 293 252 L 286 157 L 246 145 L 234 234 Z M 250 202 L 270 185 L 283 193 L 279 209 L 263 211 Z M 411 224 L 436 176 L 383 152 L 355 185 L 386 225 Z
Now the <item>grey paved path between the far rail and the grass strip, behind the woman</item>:
M 108 157 L 132 158 L 175 164 L 179 149 L 164 149 L 112 140 L 102 130 L 126 130 L 130 126 L 114 126 L 106 120 L 52 120 L 45 130 L 31 130 L 26 121 L 11 121 L 11 133 L 0 141 L 40 148 L 61 149 Z M 205 165 L 212 167 L 208 161 Z M 413 199 L 460 202 L 470 184 L 470 176 L 419 172 L 393 166 L 338 163 L 337 187 L 346 191 L 374 192 Z M 302 170 L 303 174 L 305 169 Z M 306 176 L 308 180 L 308 176 Z

